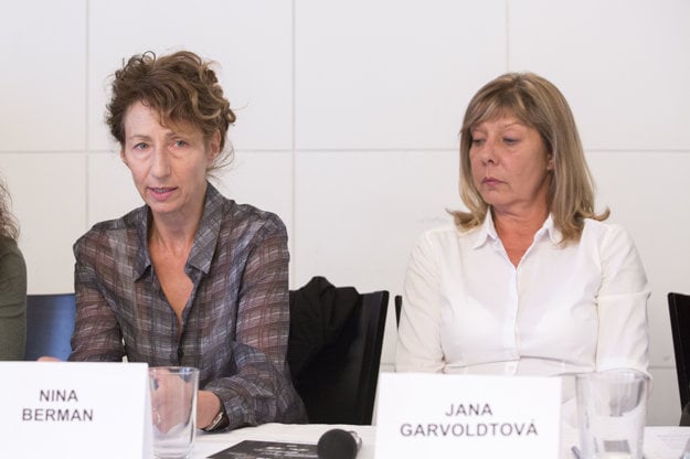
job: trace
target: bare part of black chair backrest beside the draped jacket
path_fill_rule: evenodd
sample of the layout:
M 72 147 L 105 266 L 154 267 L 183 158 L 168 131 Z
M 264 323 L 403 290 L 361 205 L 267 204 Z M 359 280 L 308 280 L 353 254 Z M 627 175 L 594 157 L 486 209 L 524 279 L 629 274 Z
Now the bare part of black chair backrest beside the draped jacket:
M 293 374 L 310 423 L 371 424 L 388 303 L 385 290 L 359 293 L 339 335 L 327 342 L 299 374 Z M 290 320 L 299 321 L 300 317 L 293 313 Z M 288 345 L 288 362 L 295 360 L 299 359 L 290 356 Z

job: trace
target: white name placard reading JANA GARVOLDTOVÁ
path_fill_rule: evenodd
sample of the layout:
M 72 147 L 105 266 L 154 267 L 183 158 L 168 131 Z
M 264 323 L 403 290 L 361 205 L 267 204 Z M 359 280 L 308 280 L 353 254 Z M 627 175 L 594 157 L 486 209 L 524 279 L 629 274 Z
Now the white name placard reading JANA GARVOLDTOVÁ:
M 558 458 L 561 378 L 381 373 L 376 459 Z

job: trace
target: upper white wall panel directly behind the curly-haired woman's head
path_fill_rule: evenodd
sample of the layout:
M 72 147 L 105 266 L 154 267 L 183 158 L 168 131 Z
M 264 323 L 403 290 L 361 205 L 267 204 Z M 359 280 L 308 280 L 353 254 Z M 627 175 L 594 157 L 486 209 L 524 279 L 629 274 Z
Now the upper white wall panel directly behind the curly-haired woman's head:
M 237 115 L 231 129 L 236 148 L 290 148 L 289 1 L 92 0 L 89 13 L 89 148 L 108 146 L 106 90 L 123 58 L 180 49 L 220 64 L 219 77 Z

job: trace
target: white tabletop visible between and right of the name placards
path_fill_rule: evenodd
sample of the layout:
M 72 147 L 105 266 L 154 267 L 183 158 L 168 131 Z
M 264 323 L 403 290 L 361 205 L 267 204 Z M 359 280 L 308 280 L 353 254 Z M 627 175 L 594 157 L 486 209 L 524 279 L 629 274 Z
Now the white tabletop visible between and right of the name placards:
M 197 437 L 192 458 L 206 458 L 242 440 L 316 444 L 323 433 L 333 428 L 357 431 L 362 439 L 362 449 L 357 455 L 357 459 L 374 458 L 374 426 L 323 424 L 265 424 L 223 434 L 201 433 Z M 688 438 L 690 438 L 690 427 L 646 427 L 645 457 L 646 459 L 678 459 Z M 569 440 L 574 441 L 573 438 L 569 438 Z M 572 459 L 572 456 L 563 459 Z

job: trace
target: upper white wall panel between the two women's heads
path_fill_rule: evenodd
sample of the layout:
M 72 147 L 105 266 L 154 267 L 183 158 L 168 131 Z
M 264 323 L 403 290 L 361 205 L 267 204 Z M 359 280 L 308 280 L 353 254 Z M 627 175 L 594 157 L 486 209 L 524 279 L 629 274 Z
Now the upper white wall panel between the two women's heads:
M 505 72 L 505 2 L 299 0 L 300 149 L 453 148 L 471 93 Z

